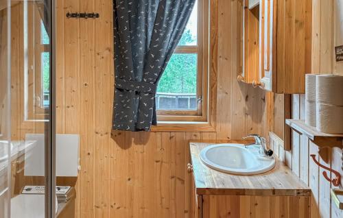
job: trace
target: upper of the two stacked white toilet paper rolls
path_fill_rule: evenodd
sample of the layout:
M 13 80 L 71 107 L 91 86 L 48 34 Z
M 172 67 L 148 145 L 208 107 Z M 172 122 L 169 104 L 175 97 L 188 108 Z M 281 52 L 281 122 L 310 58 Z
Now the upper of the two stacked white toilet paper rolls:
M 343 76 L 317 75 L 316 95 L 320 103 L 343 106 Z

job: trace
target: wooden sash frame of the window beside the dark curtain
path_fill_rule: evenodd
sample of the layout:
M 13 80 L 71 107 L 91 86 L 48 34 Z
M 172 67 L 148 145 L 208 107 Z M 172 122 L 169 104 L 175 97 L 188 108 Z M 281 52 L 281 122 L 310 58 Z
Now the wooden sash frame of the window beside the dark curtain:
M 197 110 L 156 110 L 160 123 L 206 122 L 209 107 L 209 0 L 198 0 L 197 45 L 180 45 L 174 53 L 196 53 L 197 60 Z

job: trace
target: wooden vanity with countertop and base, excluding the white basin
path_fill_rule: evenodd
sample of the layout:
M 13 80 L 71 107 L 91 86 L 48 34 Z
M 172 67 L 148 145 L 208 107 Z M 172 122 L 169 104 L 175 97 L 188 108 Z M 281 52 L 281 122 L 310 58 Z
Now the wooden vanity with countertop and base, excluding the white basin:
M 195 217 L 310 217 L 311 190 L 283 162 L 267 173 L 231 175 L 206 167 L 199 158 L 201 149 L 215 142 L 189 144 Z

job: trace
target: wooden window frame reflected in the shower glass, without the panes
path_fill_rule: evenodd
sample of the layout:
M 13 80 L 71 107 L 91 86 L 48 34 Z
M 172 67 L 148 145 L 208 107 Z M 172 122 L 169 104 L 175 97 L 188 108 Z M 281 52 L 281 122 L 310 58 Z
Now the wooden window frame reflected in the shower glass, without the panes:
M 49 45 L 44 45 L 41 40 L 41 27 L 43 25 L 40 7 L 36 4 L 23 3 L 26 16 L 23 21 L 23 110 L 25 121 L 44 122 L 49 107 L 43 106 L 43 71 L 41 55 L 49 52 Z M 25 14 L 25 13 L 24 13 Z M 25 70 L 27 69 L 27 70 Z

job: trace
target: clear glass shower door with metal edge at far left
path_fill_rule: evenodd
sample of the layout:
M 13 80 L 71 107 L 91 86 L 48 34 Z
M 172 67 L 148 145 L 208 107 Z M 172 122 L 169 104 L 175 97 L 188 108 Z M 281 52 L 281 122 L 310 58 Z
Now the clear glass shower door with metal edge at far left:
M 0 218 L 56 217 L 52 3 L 0 0 Z

